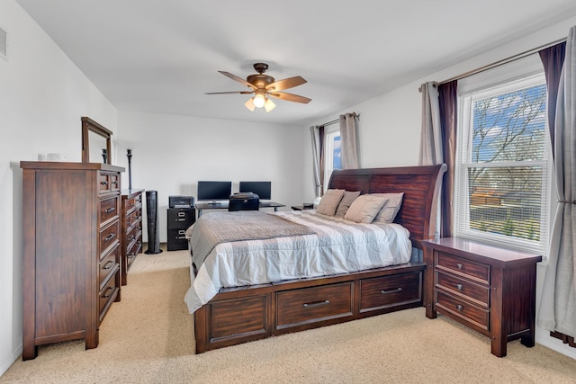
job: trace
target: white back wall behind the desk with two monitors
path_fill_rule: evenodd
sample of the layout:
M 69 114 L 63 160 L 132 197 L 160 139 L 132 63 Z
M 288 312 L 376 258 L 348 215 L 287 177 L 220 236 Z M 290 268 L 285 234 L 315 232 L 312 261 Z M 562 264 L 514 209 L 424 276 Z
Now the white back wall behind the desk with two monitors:
M 122 187 L 130 148 L 132 188 L 157 191 L 160 242 L 166 242 L 168 196 L 196 196 L 198 180 L 231 181 L 233 192 L 240 180 L 271 181 L 272 200 L 283 210 L 302 205 L 300 127 L 124 111 L 118 126 L 116 164 L 127 170 Z

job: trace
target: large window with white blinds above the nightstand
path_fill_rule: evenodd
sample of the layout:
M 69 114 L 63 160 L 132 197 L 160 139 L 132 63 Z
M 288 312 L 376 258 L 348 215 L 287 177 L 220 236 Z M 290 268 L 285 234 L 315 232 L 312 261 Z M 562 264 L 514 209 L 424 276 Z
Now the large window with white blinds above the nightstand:
M 459 95 L 455 234 L 545 252 L 551 181 L 544 73 Z

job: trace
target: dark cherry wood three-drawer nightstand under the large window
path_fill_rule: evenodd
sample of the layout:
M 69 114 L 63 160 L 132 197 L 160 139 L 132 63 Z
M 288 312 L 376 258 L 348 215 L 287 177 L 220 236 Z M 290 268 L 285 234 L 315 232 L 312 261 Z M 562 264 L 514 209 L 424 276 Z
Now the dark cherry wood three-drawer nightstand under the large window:
M 507 343 L 535 343 L 536 263 L 542 256 L 458 237 L 422 242 L 426 316 L 451 317 L 491 338 L 491 352 Z

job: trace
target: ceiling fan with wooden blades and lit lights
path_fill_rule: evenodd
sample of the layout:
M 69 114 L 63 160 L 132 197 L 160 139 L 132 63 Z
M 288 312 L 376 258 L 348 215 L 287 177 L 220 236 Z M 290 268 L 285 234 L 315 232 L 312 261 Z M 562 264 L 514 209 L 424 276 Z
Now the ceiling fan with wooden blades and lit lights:
M 294 103 L 311 102 L 312 99 L 309 99 L 308 97 L 283 92 L 284 89 L 306 84 L 307 82 L 302 78 L 302 76 L 294 76 L 275 81 L 274 77 L 264 74 L 266 69 L 268 69 L 268 65 L 266 63 L 256 63 L 254 64 L 254 69 L 256 69 L 257 74 L 247 76 L 246 80 L 241 77 L 232 75 L 229 72 L 218 71 L 220 74 L 228 76 L 232 80 L 238 81 L 240 84 L 246 85 L 248 88 L 250 88 L 249 91 L 208 92 L 206 94 L 255 94 L 253 97 L 250 97 L 244 104 L 246 105 L 246 108 L 252 112 L 254 112 L 255 108 L 262 107 L 266 109 L 266 112 L 274 110 L 276 105 L 275 103 L 272 103 L 270 97 Z

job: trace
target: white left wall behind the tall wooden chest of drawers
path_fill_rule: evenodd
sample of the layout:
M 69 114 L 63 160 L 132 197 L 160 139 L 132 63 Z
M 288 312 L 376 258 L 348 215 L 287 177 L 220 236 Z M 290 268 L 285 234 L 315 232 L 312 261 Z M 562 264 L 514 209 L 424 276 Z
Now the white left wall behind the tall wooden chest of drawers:
M 21 160 L 81 159 L 81 116 L 112 131 L 116 110 L 14 0 L 0 2 L 0 374 L 22 353 Z

